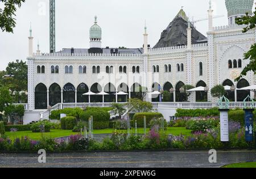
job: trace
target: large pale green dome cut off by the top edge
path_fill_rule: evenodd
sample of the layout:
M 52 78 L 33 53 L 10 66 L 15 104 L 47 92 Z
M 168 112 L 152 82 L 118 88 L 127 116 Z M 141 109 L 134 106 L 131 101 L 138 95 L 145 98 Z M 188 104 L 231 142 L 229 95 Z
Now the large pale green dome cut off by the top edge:
M 251 14 L 253 0 L 226 0 L 226 9 L 228 17 L 236 15 L 245 15 L 246 12 Z

